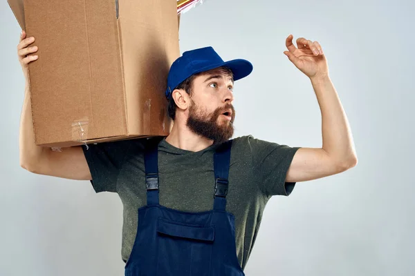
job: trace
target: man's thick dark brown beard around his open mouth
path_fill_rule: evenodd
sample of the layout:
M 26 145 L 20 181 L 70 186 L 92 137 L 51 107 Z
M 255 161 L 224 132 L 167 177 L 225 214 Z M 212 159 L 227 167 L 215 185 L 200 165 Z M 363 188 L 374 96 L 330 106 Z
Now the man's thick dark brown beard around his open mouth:
M 227 110 L 232 110 L 232 119 L 230 121 L 221 119 L 221 124 L 218 123 L 219 117 Z M 220 144 L 224 141 L 228 141 L 234 133 L 233 122 L 235 118 L 235 110 L 232 104 L 216 108 L 214 112 L 203 112 L 201 108 L 196 106 L 192 101 L 192 106 L 189 109 L 189 118 L 187 119 L 186 126 L 202 137 L 213 140 L 214 144 Z

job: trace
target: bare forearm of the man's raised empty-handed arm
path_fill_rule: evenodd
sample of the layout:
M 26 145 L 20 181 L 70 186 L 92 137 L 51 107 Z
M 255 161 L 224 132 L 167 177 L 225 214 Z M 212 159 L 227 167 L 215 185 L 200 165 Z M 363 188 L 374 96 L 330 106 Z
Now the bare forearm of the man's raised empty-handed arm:
M 357 162 L 353 136 L 346 112 L 329 76 L 311 78 L 322 114 L 322 148 L 341 166 Z

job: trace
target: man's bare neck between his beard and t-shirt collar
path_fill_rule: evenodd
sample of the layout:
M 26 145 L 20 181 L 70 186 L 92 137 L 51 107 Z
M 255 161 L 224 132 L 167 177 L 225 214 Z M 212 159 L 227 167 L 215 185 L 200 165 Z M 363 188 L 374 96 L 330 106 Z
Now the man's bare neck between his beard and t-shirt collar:
M 185 124 L 180 124 L 180 122 L 174 122 L 172 131 L 166 137 L 166 141 L 176 148 L 193 152 L 204 150 L 213 144 L 212 140 L 196 135 Z

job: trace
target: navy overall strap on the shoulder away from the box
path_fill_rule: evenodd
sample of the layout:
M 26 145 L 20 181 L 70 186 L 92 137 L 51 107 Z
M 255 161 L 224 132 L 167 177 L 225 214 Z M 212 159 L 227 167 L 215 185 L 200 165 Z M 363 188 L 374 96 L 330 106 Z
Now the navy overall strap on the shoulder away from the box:
M 228 195 L 228 176 L 230 165 L 230 148 L 232 140 L 226 141 L 216 149 L 213 157 L 214 165 L 214 210 L 226 209 L 226 195 Z

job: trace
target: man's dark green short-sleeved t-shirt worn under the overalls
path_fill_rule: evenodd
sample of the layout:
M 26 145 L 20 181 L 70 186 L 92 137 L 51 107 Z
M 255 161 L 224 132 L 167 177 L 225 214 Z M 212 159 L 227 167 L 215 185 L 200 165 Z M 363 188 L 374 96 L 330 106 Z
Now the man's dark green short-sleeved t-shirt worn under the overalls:
M 136 239 L 138 208 L 145 206 L 144 139 L 82 146 L 96 193 L 118 193 L 124 207 L 122 259 L 127 262 Z M 217 146 L 199 152 L 158 145 L 160 205 L 185 212 L 212 210 L 213 154 Z M 226 210 L 235 217 L 237 257 L 245 268 L 255 243 L 262 213 L 273 195 L 288 196 L 295 183 L 286 172 L 298 148 L 238 137 L 232 142 Z M 145 248 L 143 248 L 145 250 Z

